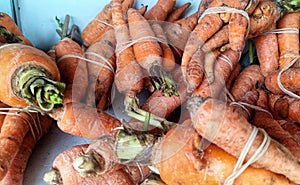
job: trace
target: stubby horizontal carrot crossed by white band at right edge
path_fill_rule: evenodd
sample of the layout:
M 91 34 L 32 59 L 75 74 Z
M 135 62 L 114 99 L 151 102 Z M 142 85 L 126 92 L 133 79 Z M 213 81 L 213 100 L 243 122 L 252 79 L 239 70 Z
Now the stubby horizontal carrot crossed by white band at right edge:
M 274 94 L 285 94 L 278 86 L 279 70 L 273 71 L 265 79 L 266 88 Z M 291 92 L 300 91 L 300 69 L 290 68 L 281 74 L 282 85 Z

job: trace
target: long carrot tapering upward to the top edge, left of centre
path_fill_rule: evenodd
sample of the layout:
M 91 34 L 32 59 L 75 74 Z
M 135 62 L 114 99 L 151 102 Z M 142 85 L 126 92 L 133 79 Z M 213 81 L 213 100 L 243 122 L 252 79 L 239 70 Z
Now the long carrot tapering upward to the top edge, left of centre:
M 128 91 L 140 92 L 144 87 L 143 72 L 136 62 L 132 46 L 123 48 L 124 44 L 130 42 L 129 29 L 123 17 L 120 3 L 114 2 L 112 6 L 112 23 L 116 37 L 116 74 L 115 83 L 118 90 L 122 93 Z

